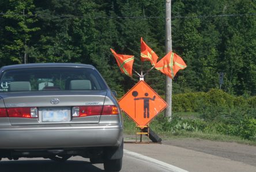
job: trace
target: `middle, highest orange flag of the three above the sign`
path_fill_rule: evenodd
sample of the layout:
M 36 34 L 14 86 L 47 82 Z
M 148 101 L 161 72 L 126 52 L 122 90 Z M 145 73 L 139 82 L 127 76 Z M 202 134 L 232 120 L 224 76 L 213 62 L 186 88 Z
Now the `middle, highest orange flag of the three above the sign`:
M 141 61 L 150 61 L 155 66 L 157 58 L 156 53 L 141 38 Z

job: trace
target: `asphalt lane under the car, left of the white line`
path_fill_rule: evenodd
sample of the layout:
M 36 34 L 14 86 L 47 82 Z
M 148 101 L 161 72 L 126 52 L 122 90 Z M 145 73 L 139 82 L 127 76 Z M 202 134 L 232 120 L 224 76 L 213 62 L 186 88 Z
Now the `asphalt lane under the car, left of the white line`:
M 89 159 L 81 157 L 70 158 L 66 162 L 54 162 L 48 159 L 42 158 L 21 158 L 18 161 L 8 161 L 3 159 L 0 162 L 0 171 L 4 172 L 96 172 L 104 171 L 102 164 L 92 165 L 89 163 Z M 165 166 L 152 164 L 145 161 L 145 159 L 139 159 L 137 157 L 130 156 L 129 154 L 123 157 L 122 171 L 163 171 L 170 172 L 170 169 Z

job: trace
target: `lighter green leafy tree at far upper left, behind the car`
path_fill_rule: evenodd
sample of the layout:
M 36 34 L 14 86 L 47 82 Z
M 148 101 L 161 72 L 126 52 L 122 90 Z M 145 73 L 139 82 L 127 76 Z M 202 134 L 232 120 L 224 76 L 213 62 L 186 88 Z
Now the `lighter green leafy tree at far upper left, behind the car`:
M 9 9 L 3 15 L 7 19 L 5 29 L 8 36 L 4 53 L 8 54 L 10 61 L 14 63 L 27 63 L 28 52 L 33 48 L 31 45 L 32 33 L 40 30 L 33 26 L 37 21 L 33 14 L 35 5 L 33 0 L 9 0 L 8 6 Z

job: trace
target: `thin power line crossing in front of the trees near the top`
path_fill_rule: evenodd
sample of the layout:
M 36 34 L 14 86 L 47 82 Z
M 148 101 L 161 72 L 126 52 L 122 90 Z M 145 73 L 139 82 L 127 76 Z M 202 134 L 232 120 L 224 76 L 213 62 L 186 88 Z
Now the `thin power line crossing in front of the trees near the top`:
M 165 17 L 157 17 L 157 16 L 83 16 L 83 15 L 54 15 L 54 14 L 7 14 L 7 13 L 0 13 L 1 15 L 12 15 L 12 16 L 27 16 L 27 17 L 60 17 L 60 18 L 94 18 L 94 19 L 106 19 L 106 18 L 138 18 L 138 19 L 150 19 L 150 18 L 165 18 Z M 172 19 L 175 18 L 216 18 L 216 17 L 244 17 L 244 16 L 254 16 L 256 13 L 247 13 L 247 14 L 218 14 L 218 15 L 195 15 L 195 16 L 173 16 Z

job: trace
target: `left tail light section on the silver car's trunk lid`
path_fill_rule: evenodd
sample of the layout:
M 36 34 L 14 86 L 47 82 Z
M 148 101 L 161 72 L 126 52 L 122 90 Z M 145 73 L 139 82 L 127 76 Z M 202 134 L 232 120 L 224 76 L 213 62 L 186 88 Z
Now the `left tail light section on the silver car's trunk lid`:
M 35 107 L 6 108 L 6 110 L 10 118 L 38 118 L 38 111 Z

